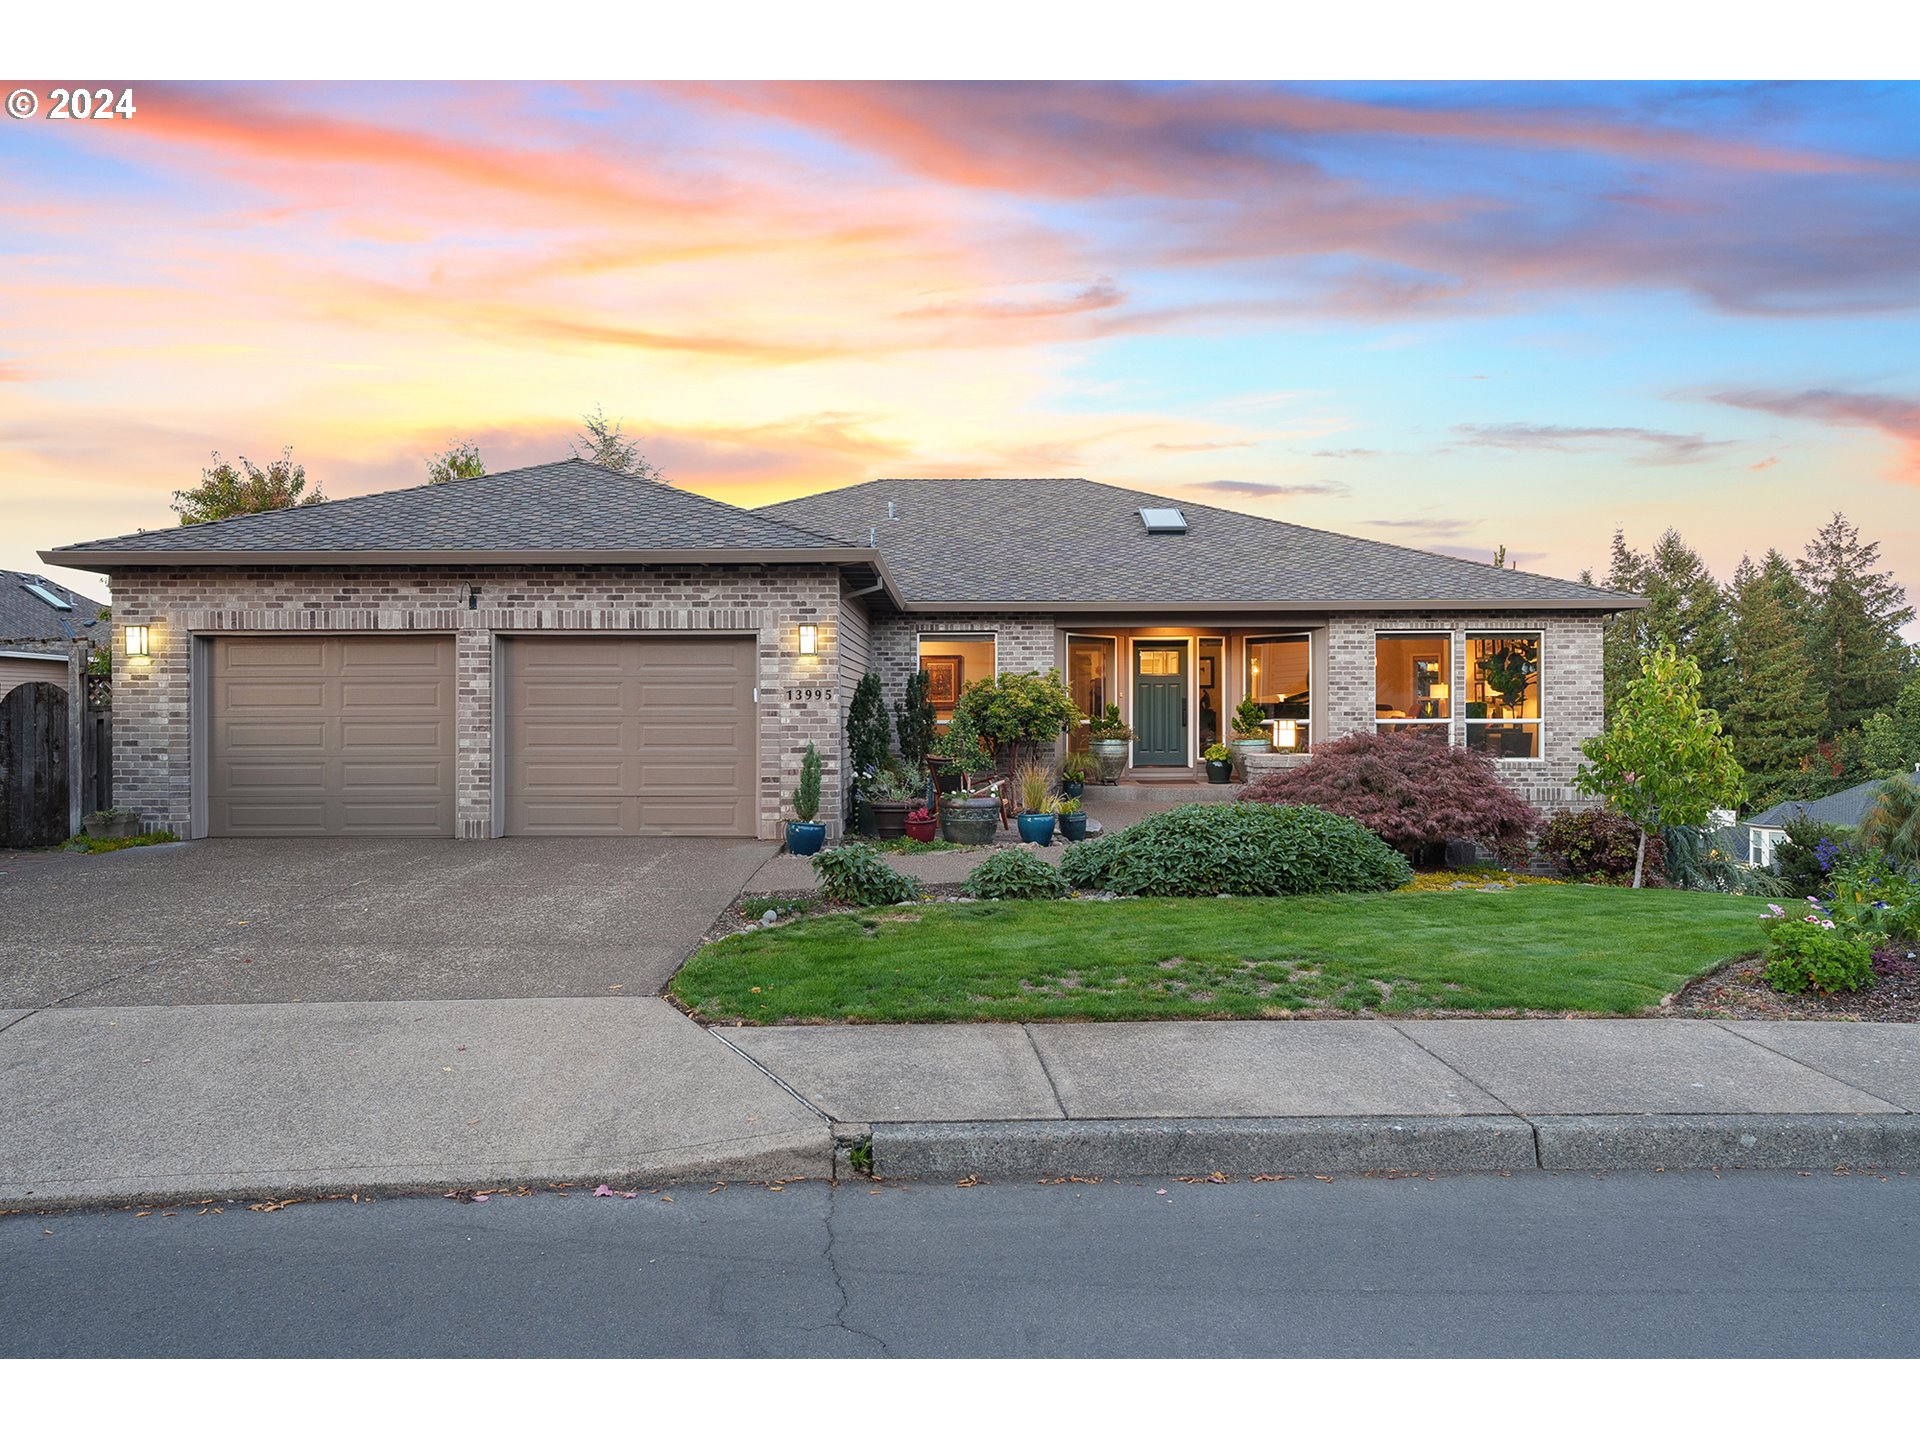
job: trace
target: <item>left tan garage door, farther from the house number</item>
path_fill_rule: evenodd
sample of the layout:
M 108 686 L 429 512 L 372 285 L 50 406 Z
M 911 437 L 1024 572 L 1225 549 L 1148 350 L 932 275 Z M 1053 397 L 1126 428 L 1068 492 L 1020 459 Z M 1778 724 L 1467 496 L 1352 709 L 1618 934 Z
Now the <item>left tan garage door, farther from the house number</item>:
M 213 835 L 451 835 L 453 641 L 213 641 Z

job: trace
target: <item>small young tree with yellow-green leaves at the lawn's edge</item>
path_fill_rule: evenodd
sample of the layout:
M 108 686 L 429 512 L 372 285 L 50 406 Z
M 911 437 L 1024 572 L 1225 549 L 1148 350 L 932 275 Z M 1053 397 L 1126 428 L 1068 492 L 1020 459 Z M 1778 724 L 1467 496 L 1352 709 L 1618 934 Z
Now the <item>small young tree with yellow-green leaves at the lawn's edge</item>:
M 1580 745 L 1592 762 L 1574 783 L 1640 828 L 1634 889 L 1645 877 L 1647 835 L 1661 826 L 1705 826 L 1743 793 L 1720 716 L 1699 703 L 1699 666 L 1661 645 L 1640 664 L 1607 728 Z

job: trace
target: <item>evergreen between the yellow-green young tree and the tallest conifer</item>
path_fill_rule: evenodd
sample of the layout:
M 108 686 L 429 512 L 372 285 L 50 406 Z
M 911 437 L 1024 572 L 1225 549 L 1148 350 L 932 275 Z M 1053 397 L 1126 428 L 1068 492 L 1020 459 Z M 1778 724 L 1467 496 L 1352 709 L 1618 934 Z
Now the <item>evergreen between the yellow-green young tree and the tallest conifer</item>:
M 1784 797 L 1820 739 L 1820 695 L 1807 666 L 1807 589 L 1788 559 L 1740 559 L 1728 586 L 1726 733 L 1755 795 Z

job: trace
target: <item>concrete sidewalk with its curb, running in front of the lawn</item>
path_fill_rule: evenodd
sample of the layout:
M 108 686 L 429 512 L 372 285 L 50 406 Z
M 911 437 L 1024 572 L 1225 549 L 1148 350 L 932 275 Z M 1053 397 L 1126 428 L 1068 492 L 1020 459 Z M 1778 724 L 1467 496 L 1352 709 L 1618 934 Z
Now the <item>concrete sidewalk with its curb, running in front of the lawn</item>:
M 810 1025 L 724 1039 L 893 1177 L 1920 1165 L 1920 1027 Z

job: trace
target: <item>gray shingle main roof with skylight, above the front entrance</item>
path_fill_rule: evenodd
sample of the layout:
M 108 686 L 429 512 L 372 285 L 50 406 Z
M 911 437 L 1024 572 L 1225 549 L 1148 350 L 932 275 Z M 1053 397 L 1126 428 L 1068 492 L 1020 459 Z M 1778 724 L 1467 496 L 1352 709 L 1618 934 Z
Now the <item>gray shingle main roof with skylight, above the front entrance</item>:
M 893 503 L 893 518 L 887 505 Z M 1187 515 L 1150 536 L 1140 507 Z M 1490 605 L 1628 609 L 1571 580 L 1359 540 L 1092 480 L 870 480 L 760 515 L 866 543 L 908 605 Z

